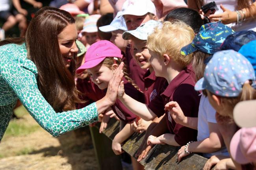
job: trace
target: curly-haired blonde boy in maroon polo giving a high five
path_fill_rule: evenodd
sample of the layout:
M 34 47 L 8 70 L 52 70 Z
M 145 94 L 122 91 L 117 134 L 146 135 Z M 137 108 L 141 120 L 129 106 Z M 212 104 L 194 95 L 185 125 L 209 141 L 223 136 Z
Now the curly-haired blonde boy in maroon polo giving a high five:
M 150 63 L 154 68 L 156 76 L 164 77 L 169 85 L 165 91 L 156 96 L 156 101 L 169 101 L 181 103 L 180 107 L 186 110 L 190 117 L 197 117 L 200 97 L 194 90 L 194 72 L 191 70 L 192 55 L 182 56 L 180 49 L 194 38 L 193 30 L 183 22 L 164 22 L 161 28 L 148 36 L 148 49 L 150 51 Z M 145 119 L 152 120 L 165 113 L 165 118 L 151 131 L 148 137 L 148 144 L 170 144 L 174 146 L 186 145 L 189 141 L 197 139 L 197 131 L 176 124 L 169 112 L 159 109 L 159 102 L 145 104 L 134 102 L 127 95 L 123 95 L 121 101 L 136 115 Z M 139 108 L 139 109 L 138 109 Z M 165 133 L 166 130 L 169 133 Z M 163 134 L 165 133 L 165 134 Z M 163 135 L 162 135 L 163 134 Z M 157 137 L 158 136 L 158 137 Z M 148 150 L 147 150 L 148 151 Z M 143 152 L 138 160 L 145 157 L 147 152 Z

